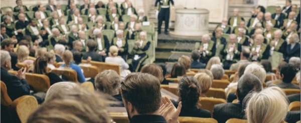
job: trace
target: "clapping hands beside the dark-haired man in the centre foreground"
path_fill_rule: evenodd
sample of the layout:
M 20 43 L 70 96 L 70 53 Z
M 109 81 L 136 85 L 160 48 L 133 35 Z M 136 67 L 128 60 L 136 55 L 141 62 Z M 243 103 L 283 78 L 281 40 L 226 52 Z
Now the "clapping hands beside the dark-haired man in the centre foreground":
M 167 122 L 179 122 L 178 117 L 181 112 L 182 102 L 179 102 L 178 108 L 174 106 L 168 97 L 162 97 L 162 105 L 159 109 L 160 114 L 165 117 Z

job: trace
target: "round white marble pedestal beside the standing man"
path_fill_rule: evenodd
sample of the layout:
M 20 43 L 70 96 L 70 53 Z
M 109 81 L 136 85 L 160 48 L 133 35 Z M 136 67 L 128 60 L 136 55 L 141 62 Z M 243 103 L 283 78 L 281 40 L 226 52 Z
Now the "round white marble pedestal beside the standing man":
M 176 9 L 175 31 L 173 36 L 200 37 L 208 33 L 209 10 L 207 9 Z

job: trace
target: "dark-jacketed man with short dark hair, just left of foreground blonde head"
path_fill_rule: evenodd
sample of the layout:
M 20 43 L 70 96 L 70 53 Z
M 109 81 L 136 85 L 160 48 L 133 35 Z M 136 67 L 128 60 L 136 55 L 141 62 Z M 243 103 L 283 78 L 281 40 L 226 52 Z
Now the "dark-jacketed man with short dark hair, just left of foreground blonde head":
M 236 96 L 238 99 L 237 103 L 222 103 L 214 105 L 213 118 L 218 122 L 226 122 L 230 118 L 245 117 L 244 105 L 242 101 L 246 95 L 252 91 L 261 91 L 262 83 L 255 75 L 246 73 L 242 75 L 237 84 Z

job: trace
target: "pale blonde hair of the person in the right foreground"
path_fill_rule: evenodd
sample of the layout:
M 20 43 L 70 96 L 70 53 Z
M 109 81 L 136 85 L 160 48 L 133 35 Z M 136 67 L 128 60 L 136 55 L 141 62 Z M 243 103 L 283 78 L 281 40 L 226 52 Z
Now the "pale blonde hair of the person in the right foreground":
M 287 98 L 277 86 L 253 93 L 248 100 L 246 116 L 248 122 L 281 122 L 287 114 Z

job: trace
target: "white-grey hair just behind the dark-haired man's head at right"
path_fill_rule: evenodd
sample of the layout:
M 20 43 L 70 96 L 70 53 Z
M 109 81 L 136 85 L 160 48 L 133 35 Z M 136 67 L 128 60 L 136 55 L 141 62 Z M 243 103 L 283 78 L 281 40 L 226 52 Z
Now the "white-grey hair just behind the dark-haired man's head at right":
M 264 83 L 264 81 L 265 81 L 266 72 L 265 72 L 264 68 L 262 68 L 258 64 L 255 64 L 255 63 L 249 64 L 244 70 L 244 74 L 245 73 L 254 74 L 255 76 L 257 76 L 259 78 L 261 83 Z

